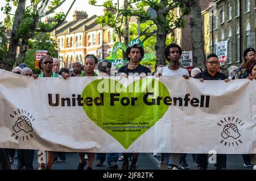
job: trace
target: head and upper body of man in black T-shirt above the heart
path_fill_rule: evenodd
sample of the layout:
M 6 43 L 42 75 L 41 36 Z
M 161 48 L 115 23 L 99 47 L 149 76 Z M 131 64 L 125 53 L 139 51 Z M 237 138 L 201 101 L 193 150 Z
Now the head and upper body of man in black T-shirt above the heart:
M 144 50 L 140 45 L 131 45 L 126 49 L 125 54 L 129 60 L 129 64 L 122 66 L 118 70 L 118 73 L 125 73 L 126 75 L 147 75 L 148 73 L 151 73 L 150 69 L 139 64 L 141 59 L 144 57 Z

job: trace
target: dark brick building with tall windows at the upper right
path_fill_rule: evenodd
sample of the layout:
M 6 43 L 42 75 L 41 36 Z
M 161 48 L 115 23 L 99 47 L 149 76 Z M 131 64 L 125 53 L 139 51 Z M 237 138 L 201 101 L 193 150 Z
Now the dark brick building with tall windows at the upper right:
M 215 1 L 203 12 L 205 25 L 205 52 L 216 52 L 216 44 L 228 41 L 228 61 L 221 63 L 222 70 L 240 65 L 243 51 L 255 48 L 256 1 Z

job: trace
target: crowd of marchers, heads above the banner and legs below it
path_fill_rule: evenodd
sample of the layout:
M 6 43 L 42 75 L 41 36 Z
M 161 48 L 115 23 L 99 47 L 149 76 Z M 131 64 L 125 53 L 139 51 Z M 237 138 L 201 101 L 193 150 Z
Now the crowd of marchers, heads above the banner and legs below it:
M 156 68 L 155 76 L 175 76 L 189 77 L 204 80 L 223 80 L 228 82 L 231 79 L 248 78 L 251 81 L 256 80 L 256 60 L 255 50 L 253 48 L 247 48 L 243 53 L 244 61 L 240 66 L 230 66 L 228 69 L 229 75 L 221 73 L 221 66 L 216 54 L 209 54 L 205 60 L 205 67 L 193 68 L 189 74 L 188 70 L 181 68 L 179 59 L 182 53 L 182 49 L 177 44 L 170 44 L 164 49 L 164 56 L 168 61 L 168 65 L 159 65 Z M 138 44 L 131 45 L 126 50 L 126 57 L 129 62 L 118 69 L 118 75 L 128 77 L 130 75 L 140 76 L 144 78 L 151 73 L 150 69 L 140 64 L 142 57 L 144 56 L 143 47 Z M 98 74 L 94 71 L 97 66 Z M 3 68 L 3 61 L 0 60 L 0 69 Z M 33 74 L 33 71 L 27 67 L 26 64 L 20 64 L 11 70 L 13 73 L 34 77 L 88 77 L 88 76 L 110 76 L 110 69 L 112 64 L 108 61 L 98 62 L 98 59 L 93 54 L 87 54 L 85 56 L 85 64 L 82 66 L 80 62 L 73 64 L 73 73 L 69 74 L 67 68 L 60 69 L 60 61 L 57 58 L 52 58 L 49 55 L 43 56 L 39 61 L 39 68 L 42 70 L 40 74 Z M 17 169 L 34 169 L 32 163 L 34 160 L 34 150 L 22 150 L 22 149 L 0 149 L 0 169 L 10 169 L 10 164 L 14 162 L 14 157 L 18 158 Z M 179 165 L 182 169 L 189 169 L 189 165 L 186 162 L 187 154 L 180 153 L 153 153 L 155 157 L 161 157 L 160 169 L 177 170 Z M 65 161 L 65 153 L 47 151 L 47 164 L 39 164 L 39 170 L 51 169 L 52 164 L 57 161 L 57 158 L 61 161 Z M 137 160 L 139 159 L 139 153 L 123 153 L 118 158 L 118 153 L 79 153 L 79 166 L 78 170 L 83 170 L 86 166 L 86 158 L 88 158 L 88 170 L 93 167 L 94 157 L 96 157 L 96 166 L 102 166 L 105 160 L 108 162 L 109 169 L 118 169 L 117 161 L 123 161 L 122 170 L 136 170 Z M 8 158 L 8 159 L 7 159 Z M 129 165 L 129 158 L 131 159 L 131 165 Z M 256 155 L 255 154 L 243 154 L 242 155 L 245 167 L 253 167 L 256 170 Z M 200 170 L 207 169 L 208 155 L 207 154 L 193 154 L 193 161 Z M 226 154 L 217 154 L 217 169 L 226 169 Z

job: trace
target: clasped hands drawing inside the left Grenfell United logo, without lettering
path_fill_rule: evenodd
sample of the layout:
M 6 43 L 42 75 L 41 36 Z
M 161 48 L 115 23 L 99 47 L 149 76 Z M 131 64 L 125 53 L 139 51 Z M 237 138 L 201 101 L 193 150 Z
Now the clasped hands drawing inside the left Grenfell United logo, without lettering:
M 31 127 L 31 122 L 30 119 L 28 119 L 26 116 L 20 116 L 18 117 L 18 119 L 16 120 L 16 123 L 13 127 L 14 131 L 16 133 L 20 132 L 20 131 L 24 131 L 26 133 L 33 131 L 32 127 Z

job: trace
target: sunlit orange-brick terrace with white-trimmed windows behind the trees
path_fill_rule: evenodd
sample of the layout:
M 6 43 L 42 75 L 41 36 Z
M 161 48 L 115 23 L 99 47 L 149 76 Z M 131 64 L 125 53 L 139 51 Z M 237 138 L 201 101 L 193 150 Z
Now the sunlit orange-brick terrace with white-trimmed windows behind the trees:
M 88 18 L 85 11 L 75 11 L 72 22 L 65 21 L 51 32 L 58 44 L 61 67 L 72 69 L 77 61 L 84 64 L 86 54 L 106 58 L 112 52 L 113 29 L 102 27 L 96 19 L 96 15 Z M 51 18 L 47 21 L 50 23 Z

